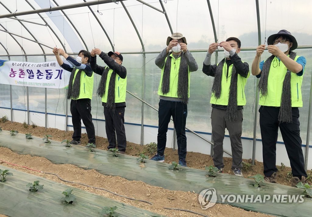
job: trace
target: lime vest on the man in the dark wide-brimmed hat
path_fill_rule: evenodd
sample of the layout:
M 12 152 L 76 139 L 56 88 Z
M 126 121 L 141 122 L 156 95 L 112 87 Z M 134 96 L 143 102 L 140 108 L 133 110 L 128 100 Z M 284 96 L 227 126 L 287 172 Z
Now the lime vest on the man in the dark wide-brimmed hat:
M 298 59 L 298 57 L 300 56 L 295 57 L 295 61 Z M 261 97 L 260 95 L 259 105 L 280 107 L 283 82 L 287 72 L 287 67 L 282 61 L 279 62 L 278 66 L 273 67 L 273 62 L 274 61 L 271 62 L 268 76 L 268 95 L 266 97 Z M 290 72 L 291 107 L 303 106 L 301 95 L 302 79 L 303 75 L 298 76 L 296 73 Z

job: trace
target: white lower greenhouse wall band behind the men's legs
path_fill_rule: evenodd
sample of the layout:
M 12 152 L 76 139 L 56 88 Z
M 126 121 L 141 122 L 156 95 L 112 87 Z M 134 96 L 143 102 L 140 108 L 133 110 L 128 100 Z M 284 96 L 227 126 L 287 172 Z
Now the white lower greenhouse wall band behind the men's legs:
M 11 120 L 11 112 L 8 108 L 0 108 L 0 117 L 6 115 L 8 120 Z M 37 126 L 44 127 L 45 126 L 45 114 L 44 113 L 36 113 L 30 112 L 30 123 L 34 122 Z M 14 122 L 24 122 L 25 117 L 27 117 L 27 112 L 13 109 L 13 117 L 12 121 Z M 102 136 L 106 138 L 105 133 L 105 120 L 96 119 L 93 120 L 95 125 L 95 132 L 97 136 Z M 27 119 L 26 119 L 27 122 Z M 60 115 L 52 115 L 48 114 L 47 117 L 47 127 L 48 128 L 57 128 L 60 130 L 65 130 L 65 116 Z M 71 117 L 68 117 L 68 130 L 72 130 L 71 124 Z M 83 124 L 82 124 L 83 126 Z M 126 129 L 126 137 L 127 141 L 140 144 L 140 132 L 141 126 L 139 124 L 134 123 L 125 123 Z M 85 128 L 83 126 L 82 133 L 86 133 Z M 158 127 L 155 126 L 144 126 L 144 144 L 148 144 L 150 142 L 157 142 L 157 133 Z M 197 132 L 200 136 L 205 138 L 206 140 L 211 140 L 211 134 L 207 132 Z M 210 155 L 211 145 L 204 141 L 202 138 L 196 136 L 192 132 L 187 132 L 187 143 L 188 143 L 188 151 L 189 152 L 199 152 L 203 154 Z M 242 137 L 242 144 L 243 144 L 243 158 L 250 159 L 252 158 L 252 147 L 253 147 L 253 140 L 252 138 Z M 167 133 L 167 144 L 166 147 L 172 148 L 173 147 L 173 129 L 169 128 Z M 175 146 L 177 149 L 177 146 Z M 230 145 L 230 138 L 225 136 L 224 138 L 224 150 L 228 153 L 231 153 L 231 145 Z M 305 153 L 305 147 L 302 147 L 303 153 Z M 285 164 L 286 166 L 290 166 L 290 162 L 287 156 L 287 152 L 285 149 L 285 145 L 281 142 L 278 142 L 276 145 L 276 164 L 280 165 L 281 163 Z M 224 153 L 224 157 L 231 157 Z M 262 162 L 262 142 L 260 140 L 256 141 L 256 155 L 255 159 L 257 161 Z M 308 160 L 308 168 L 312 169 L 312 158 L 310 157 Z

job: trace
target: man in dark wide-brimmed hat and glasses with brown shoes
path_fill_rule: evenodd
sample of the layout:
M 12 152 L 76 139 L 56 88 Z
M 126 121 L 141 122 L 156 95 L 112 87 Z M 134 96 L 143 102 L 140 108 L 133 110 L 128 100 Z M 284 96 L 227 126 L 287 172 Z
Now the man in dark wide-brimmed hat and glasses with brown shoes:
M 298 44 L 287 30 L 271 35 L 268 44 L 267 49 L 272 55 L 260 62 L 265 45 L 258 46 L 251 67 L 251 73 L 260 77 L 258 88 L 264 180 L 276 183 L 276 142 L 280 128 L 293 175 L 291 184 L 295 187 L 298 182 L 307 182 L 298 109 L 303 106 L 301 84 L 306 60 L 293 52 Z

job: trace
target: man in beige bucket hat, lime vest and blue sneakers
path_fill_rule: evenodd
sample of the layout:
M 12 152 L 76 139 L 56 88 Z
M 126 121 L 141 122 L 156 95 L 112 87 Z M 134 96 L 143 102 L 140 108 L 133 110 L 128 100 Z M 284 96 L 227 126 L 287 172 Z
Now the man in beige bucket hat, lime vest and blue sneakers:
M 185 37 L 178 32 L 167 38 L 167 47 L 158 55 L 155 64 L 161 69 L 161 76 L 158 88 L 157 154 L 151 160 L 164 162 L 168 124 L 172 116 L 177 133 L 179 164 L 186 167 L 185 123 L 190 72 L 195 72 L 198 66 L 187 48 Z

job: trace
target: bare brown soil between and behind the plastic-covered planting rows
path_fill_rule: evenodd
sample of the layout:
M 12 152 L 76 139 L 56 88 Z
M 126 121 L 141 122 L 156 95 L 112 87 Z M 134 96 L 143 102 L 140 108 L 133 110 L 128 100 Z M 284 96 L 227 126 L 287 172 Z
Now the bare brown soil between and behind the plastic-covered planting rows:
M 0 127 L 3 130 L 16 130 L 19 133 L 31 133 L 33 136 L 44 137 L 46 134 L 52 135 L 53 140 L 62 141 L 64 139 L 71 140 L 72 131 L 65 132 L 59 129 L 48 128 L 45 129 L 44 127 L 35 127 L 28 125 L 23 125 L 22 123 L 18 122 L 6 122 L 0 123 Z M 28 127 L 28 128 L 26 128 Z M 82 134 L 81 141 L 83 146 L 87 144 L 87 135 Z M 103 137 L 96 137 L 97 148 L 102 150 L 107 150 L 107 139 Z M 127 155 L 139 155 L 140 153 L 144 153 L 145 155 L 149 155 L 151 157 L 153 154 L 149 154 L 146 146 L 141 146 L 138 144 L 134 144 L 131 142 L 127 143 Z M 185 210 L 192 210 L 197 213 L 201 213 L 208 216 L 269 216 L 261 213 L 251 212 L 242 210 L 240 208 L 232 207 L 230 205 L 224 204 L 216 204 L 213 207 L 202 210 L 200 204 L 198 203 L 198 195 L 193 192 L 182 192 L 182 191 L 169 191 L 167 189 L 163 189 L 157 186 L 151 186 L 144 182 L 140 181 L 128 181 L 124 178 L 117 177 L 117 176 L 105 176 L 102 175 L 95 170 L 84 170 L 76 167 L 75 165 L 71 164 L 52 164 L 49 160 L 43 157 L 32 157 L 30 155 L 19 155 L 17 153 L 12 152 L 7 148 L 0 148 L 0 161 L 2 160 L 1 164 L 7 167 L 12 167 L 14 169 L 18 169 L 23 172 L 35 174 L 37 176 L 41 176 L 44 178 L 51 179 L 56 182 L 61 182 L 63 184 L 80 188 L 85 191 L 93 192 L 98 195 L 102 195 L 116 201 L 121 201 L 127 203 L 129 205 L 133 205 L 136 207 L 140 207 L 145 210 L 149 210 L 158 214 L 166 215 L 166 216 L 200 216 L 196 214 L 191 214 L 184 211 L 177 211 L 177 210 L 166 210 L 163 207 L 171 207 L 171 208 L 178 208 L 178 209 L 185 209 Z M 50 173 L 57 173 L 61 178 L 68 180 L 68 181 L 75 181 L 84 183 L 87 185 L 91 185 L 94 187 L 105 188 L 110 191 L 116 192 L 120 195 L 125 195 L 129 197 L 133 197 L 136 199 L 142 199 L 153 203 L 153 205 L 148 205 L 146 203 L 132 201 L 129 199 L 125 199 L 120 196 L 115 196 L 108 192 L 102 190 L 95 190 L 93 188 L 88 188 L 81 186 L 79 184 L 71 184 L 69 182 L 62 182 L 56 176 L 42 174 L 39 172 L 31 171 L 28 169 L 24 169 L 21 167 L 13 166 L 3 161 L 10 162 L 12 164 L 18 164 L 22 166 L 26 166 L 32 169 L 37 169 L 39 171 L 50 172 Z M 173 151 L 170 148 L 166 148 L 165 150 L 165 162 L 171 163 L 172 161 L 178 161 L 178 153 L 177 150 Z M 245 162 L 250 162 L 250 159 L 245 159 Z M 225 167 L 224 173 L 232 174 L 231 164 L 232 158 L 225 158 L 224 159 Z M 212 158 L 210 155 L 205 155 L 201 153 L 195 152 L 188 152 L 187 153 L 187 164 L 188 167 L 196 168 L 196 169 L 205 169 L 205 166 L 213 165 Z M 263 171 L 263 164 L 261 162 L 255 163 L 255 165 L 248 171 L 243 170 L 243 174 L 245 178 L 248 176 L 253 176 L 257 173 L 262 174 Z M 291 169 L 285 167 L 283 171 L 279 172 L 279 177 L 277 182 L 280 184 L 290 186 L 291 183 L 286 179 L 287 172 L 290 172 Z M 0 215 L 0 217 L 2 217 Z

